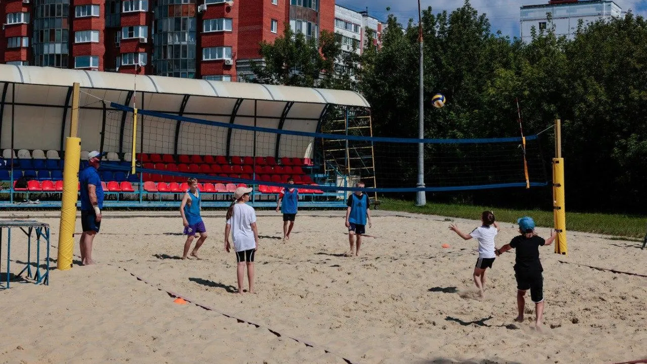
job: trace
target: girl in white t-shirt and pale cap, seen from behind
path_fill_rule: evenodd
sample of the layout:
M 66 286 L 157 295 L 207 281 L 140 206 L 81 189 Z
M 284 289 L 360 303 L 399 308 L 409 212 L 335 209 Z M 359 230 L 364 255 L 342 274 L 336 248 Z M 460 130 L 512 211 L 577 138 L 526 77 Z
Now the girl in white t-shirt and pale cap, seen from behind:
M 256 228 L 256 212 L 254 207 L 247 205 L 252 188 L 238 187 L 234 192 L 234 201 L 227 210 L 227 223 L 225 225 L 225 251 L 229 253 L 229 233 L 234 240 L 236 251 L 238 293 L 243 293 L 243 280 L 245 280 L 245 266 L 247 265 L 247 279 L 249 292 L 254 293 L 254 255 L 258 249 L 258 229 Z

